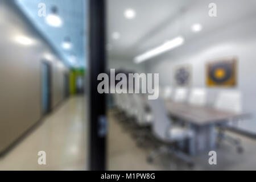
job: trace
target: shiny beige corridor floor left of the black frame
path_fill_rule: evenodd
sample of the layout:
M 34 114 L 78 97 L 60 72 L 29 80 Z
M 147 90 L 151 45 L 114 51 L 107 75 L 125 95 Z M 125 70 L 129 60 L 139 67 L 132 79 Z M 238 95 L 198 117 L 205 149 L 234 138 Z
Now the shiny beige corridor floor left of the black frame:
M 0 158 L 0 170 L 86 169 L 85 100 L 63 102 L 30 135 Z M 46 165 L 38 164 L 38 151 L 46 151 Z

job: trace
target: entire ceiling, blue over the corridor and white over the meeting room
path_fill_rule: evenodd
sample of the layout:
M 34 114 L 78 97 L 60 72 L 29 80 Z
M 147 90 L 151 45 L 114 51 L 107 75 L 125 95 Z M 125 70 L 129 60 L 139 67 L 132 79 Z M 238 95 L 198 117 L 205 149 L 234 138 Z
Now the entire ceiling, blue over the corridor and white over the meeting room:
M 85 10 L 83 0 L 16 0 L 38 29 L 46 36 L 57 51 L 66 58 L 71 67 L 85 67 Z M 163 44 L 167 40 L 182 35 L 185 42 L 229 23 L 236 23 L 251 14 L 255 14 L 256 1 L 215 0 L 217 17 L 210 18 L 208 5 L 210 0 L 106 0 L 108 55 L 110 58 L 124 58 L 133 61 L 149 49 Z M 47 14 L 53 5 L 57 6 L 63 19 L 63 26 L 56 28 L 38 16 L 38 4 L 45 3 Z M 133 9 L 134 19 L 126 19 L 124 11 Z M 192 32 L 191 26 L 200 23 L 203 30 Z M 113 32 L 119 32 L 119 39 L 113 39 Z M 69 36 L 73 48 L 69 51 L 61 47 L 64 38 Z M 183 45 L 185 46 L 185 45 Z M 77 64 L 71 64 L 69 57 L 76 56 Z

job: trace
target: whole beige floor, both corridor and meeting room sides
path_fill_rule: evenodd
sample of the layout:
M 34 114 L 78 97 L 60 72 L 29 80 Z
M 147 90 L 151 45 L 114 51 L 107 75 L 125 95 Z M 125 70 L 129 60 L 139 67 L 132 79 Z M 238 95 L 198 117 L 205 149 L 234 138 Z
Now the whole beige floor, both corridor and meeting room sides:
M 85 170 L 87 150 L 86 105 L 84 97 L 71 97 L 60 105 L 41 125 L 0 158 L 0 170 Z M 173 156 L 163 156 L 149 164 L 148 154 L 154 147 L 150 142 L 139 147 L 122 123 L 108 111 L 108 169 L 110 170 L 188 170 L 186 164 Z M 239 137 L 245 152 L 237 154 L 230 144 L 217 151 L 217 166 L 208 163 L 208 152 L 196 156 L 194 170 L 256 169 L 256 142 Z M 38 164 L 38 151 L 46 151 L 47 165 Z

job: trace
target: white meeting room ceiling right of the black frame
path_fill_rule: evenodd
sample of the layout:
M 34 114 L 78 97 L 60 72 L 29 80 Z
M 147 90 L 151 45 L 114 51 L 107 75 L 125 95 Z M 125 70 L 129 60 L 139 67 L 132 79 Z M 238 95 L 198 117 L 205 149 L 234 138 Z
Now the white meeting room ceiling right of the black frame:
M 215 0 L 217 17 L 210 18 L 210 0 L 108 0 L 108 47 L 111 59 L 133 61 L 135 56 L 182 35 L 186 41 L 207 35 L 217 28 L 255 16 L 256 1 Z M 134 19 L 126 19 L 124 11 L 134 9 Z M 201 32 L 191 26 L 200 23 Z M 119 32 L 119 39 L 113 39 Z M 185 44 L 183 45 L 185 46 Z

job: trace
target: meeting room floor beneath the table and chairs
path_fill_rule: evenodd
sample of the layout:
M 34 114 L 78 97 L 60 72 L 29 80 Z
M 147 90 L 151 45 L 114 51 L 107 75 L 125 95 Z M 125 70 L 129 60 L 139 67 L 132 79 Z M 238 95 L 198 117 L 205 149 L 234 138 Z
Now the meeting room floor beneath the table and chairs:
M 152 164 L 146 162 L 148 154 L 154 147 L 148 143 L 146 146 L 137 146 L 131 132 L 127 131 L 115 117 L 116 110 L 109 110 L 109 154 L 108 168 L 110 170 L 190 170 L 184 162 L 174 156 L 163 156 Z M 232 134 L 233 135 L 233 134 Z M 234 135 L 233 135 L 234 136 Z M 238 154 L 236 148 L 229 143 L 222 143 L 217 152 L 217 165 L 209 165 L 208 152 L 193 158 L 193 170 L 255 170 L 256 169 L 256 141 L 236 135 L 242 140 L 245 149 Z

